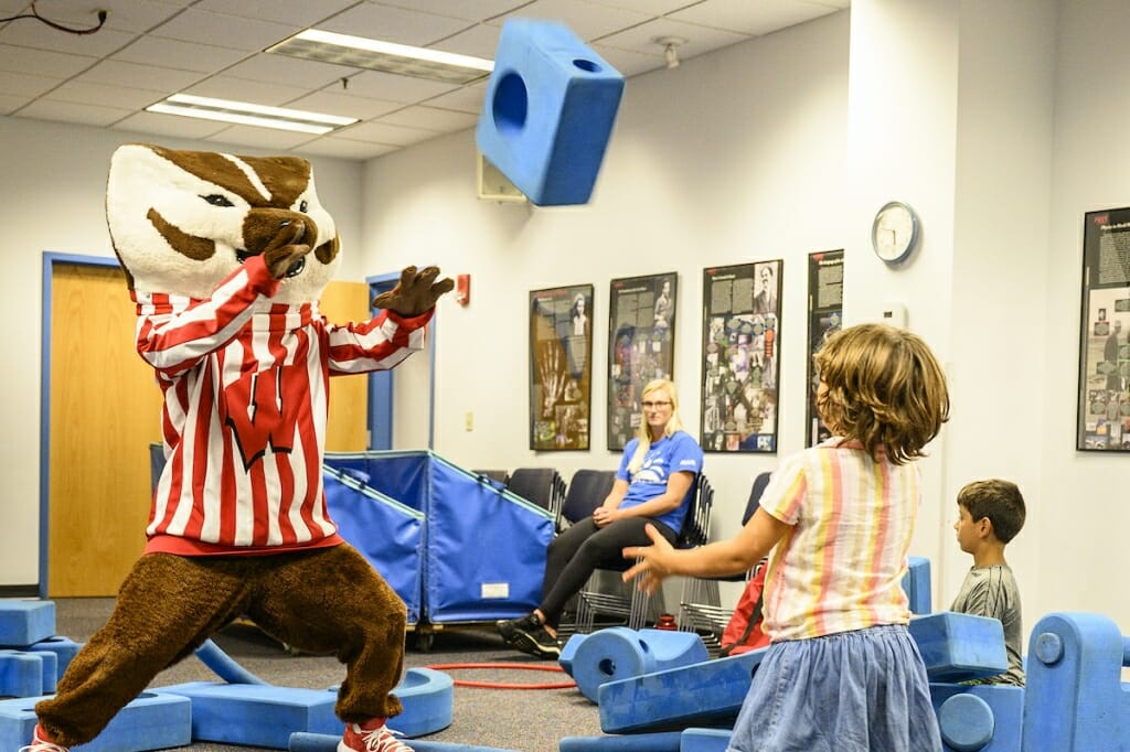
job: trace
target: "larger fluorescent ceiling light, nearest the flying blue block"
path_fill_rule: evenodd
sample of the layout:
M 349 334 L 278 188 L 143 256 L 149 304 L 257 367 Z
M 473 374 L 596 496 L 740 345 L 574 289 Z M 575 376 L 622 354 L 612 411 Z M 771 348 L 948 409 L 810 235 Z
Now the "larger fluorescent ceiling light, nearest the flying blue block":
M 484 58 L 314 28 L 282 40 L 267 52 L 451 84 L 469 84 L 494 70 L 494 61 Z

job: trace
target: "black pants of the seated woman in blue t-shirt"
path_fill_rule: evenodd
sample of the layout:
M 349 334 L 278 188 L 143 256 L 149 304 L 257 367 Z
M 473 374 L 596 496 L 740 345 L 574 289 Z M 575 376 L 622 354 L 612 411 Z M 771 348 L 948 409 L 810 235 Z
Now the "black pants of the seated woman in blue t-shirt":
M 592 517 L 585 517 L 549 543 L 546 576 L 541 582 L 541 604 L 538 606 L 549 627 L 557 629 L 565 603 L 584 587 L 594 569 L 626 569 L 624 546 L 651 545 L 651 539 L 643 530 L 647 523 L 675 544 L 675 531 L 651 517 L 628 517 L 605 527 L 597 527 Z

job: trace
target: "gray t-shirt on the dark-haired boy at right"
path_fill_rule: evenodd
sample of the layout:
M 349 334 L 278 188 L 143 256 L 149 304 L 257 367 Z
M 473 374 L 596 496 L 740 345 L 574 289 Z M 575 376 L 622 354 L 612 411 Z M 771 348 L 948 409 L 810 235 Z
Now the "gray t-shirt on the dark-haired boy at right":
M 1020 589 L 1016 586 L 1011 568 L 1008 565 L 992 565 L 970 569 L 949 610 L 976 617 L 991 617 L 1005 627 L 1008 671 L 976 683 L 1024 687 L 1024 664 L 1020 661 L 1020 642 L 1024 639 Z

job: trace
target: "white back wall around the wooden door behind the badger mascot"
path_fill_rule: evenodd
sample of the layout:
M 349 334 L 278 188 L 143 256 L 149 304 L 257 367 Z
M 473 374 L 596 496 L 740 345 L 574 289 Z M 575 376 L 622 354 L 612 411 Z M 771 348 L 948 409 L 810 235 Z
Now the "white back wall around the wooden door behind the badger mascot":
M 219 143 L 173 141 L 137 133 L 0 117 L 3 187 L 0 251 L 0 312 L 8 322 L 5 360 L 9 367 L 0 390 L 5 440 L 3 524 L 0 525 L 0 585 L 38 583 L 40 562 L 40 338 L 43 252 L 102 256 L 114 253 L 106 231 L 106 170 L 121 143 L 150 140 L 189 149 L 245 148 Z M 360 279 L 351 251 L 359 246 L 360 166 L 339 159 L 312 158 L 319 196 L 333 212 L 345 255 L 341 279 Z M 359 255 L 359 254 L 357 254 Z M 122 289 L 122 305 L 132 305 Z M 56 375 L 58 376 L 58 375 Z M 101 374 L 78 374 L 101 378 Z M 159 420 L 159 416 L 154 416 Z M 139 457 L 146 448 L 138 447 Z M 138 499 L 148 505 L 148 499 Z M 140 531 L 139 531 L 140 533 Z

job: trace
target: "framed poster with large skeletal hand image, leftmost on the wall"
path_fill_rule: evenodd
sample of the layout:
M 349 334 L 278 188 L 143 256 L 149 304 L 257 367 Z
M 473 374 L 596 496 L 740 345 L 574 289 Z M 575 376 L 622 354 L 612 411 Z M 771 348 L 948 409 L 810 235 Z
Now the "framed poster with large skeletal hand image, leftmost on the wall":
M 588 449 L 592 285 L 530 292 L 530 448 Z

